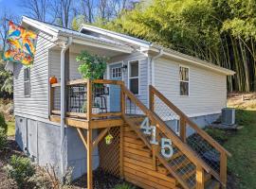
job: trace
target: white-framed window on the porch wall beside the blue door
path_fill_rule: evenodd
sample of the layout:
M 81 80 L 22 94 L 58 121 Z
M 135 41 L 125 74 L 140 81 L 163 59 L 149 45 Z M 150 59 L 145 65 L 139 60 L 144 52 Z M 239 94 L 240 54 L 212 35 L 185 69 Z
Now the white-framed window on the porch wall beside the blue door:
M 138 94 L 138 61 L 129 62 L 129 89 Z

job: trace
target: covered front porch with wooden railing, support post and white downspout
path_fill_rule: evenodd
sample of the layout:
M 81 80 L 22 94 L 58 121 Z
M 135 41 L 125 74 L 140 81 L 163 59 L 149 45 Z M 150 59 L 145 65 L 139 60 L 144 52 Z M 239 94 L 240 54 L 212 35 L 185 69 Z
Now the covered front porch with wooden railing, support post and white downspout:
M 132 50 L 127 46 L 119 46 L 119 44 L 100 45 L 84 40 L 72 40 L 64 46 L 54 46 L 49 50 L 49 77 L 54 76 L 58 80 L 57 83 L 49 85 L 49 120 L 60 123 L 61 141 L 64 141 L 66 127 L 77 130 L 86 149 L 87 186 L 92 188 L 93 151 L 99 145 L 101 146 L 102 139 L 108 133 L 121 133 L 119 131 L 123 125 L 121 115 L 124 111 L 121 101 L 123 82 L 119 79 L 83 79 L 78 71 L 79 62 L 76 61 L 77 55 L 82 50 L 108 57 L 109 62 L 117 56 L 129 55 Z M 97 133 L 96 136 L 95 133 Z M 121 141 L 118 143 L 116 146 L 119 146 Z M 113 150 L 117 152 L 117 149 Z M 119 149 L 118 153 L 121 153 Z M 118 164 L 116 167 L 121 166 Z M 106 169 L 110 170 L 113 167 L 106 167 Z

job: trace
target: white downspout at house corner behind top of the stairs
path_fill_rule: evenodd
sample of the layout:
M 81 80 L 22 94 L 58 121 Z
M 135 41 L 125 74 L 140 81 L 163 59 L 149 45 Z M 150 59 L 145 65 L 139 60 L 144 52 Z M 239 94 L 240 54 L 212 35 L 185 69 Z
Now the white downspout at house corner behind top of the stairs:
M 148 94 L 149 94 L 149 86 L 155 85 L 155 60 L 160 58 L 163 55 L 163 49 L 159 50 L 159 53 L 153 57 L 148 57 Z M 151 74 L 151 77 L 150 77 Z M 148 96 L 148 108 L 150 107 L 150 94 Z

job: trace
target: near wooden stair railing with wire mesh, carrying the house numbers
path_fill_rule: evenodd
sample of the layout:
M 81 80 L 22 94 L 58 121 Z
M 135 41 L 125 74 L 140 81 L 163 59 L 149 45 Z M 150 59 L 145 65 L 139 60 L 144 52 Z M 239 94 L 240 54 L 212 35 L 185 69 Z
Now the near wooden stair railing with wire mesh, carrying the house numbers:
M 141 114 L 141 117 L 148 118 L 151 125 L 154 125 L 158 130 L 156 139 L 158 144 L 152 144 L 152 136 L 147 136 L 141 132 L 140 127 L 143 123 L 139 122 L 135 124 L 129 117 L 129 113 L 126 112 L 126 100 L 129 98 L 135 106 L 137 107 L 137 115 Z M 135 94 L 130 92 L 124 84 L 121 89 L 121 99 L 122 99 L 122 117 L 124 121 L 130 125 L 136 132 L 140 139 L 153 150 L 153 156 L 155 155 L 159 163 L 163 164 L 167 170 L 174 176 L 176 180 L 183 186 L 183 188 L 204 188 L 204 175 L 205 171 L 210 173 L 210 166 L 201 160 L 200 157 L 192 151 L 192 148 L 187 144 L 183 143 L 181 139 L 175 135 L 174 131 L 169 129 L 166 123 L 161 120 L 154 112 L 150 111 L 143 103 L 141 103 Z M 130 112 L 131 113 L 131 112 Z M 131 115 L 132 117 L 132 115 Z M 145 119 L 144 119 L 145 120 Z M 159 147 L 160 145 L 164 145 Z M 170 148 L 172 146 L 172 148 Z M 169 147 L 169 148 L 168 148 Z M 155 152 L 154 152 L 155 149 Z M 167 150 L 167 151 L 165 151 Z M 163 153 L 164 151 L 164 153 Z M 172 157 L 166 157 L 170 155 L 172 151 Z M 182 154 L 181 158 L 174 158 L 176 154 Z M 155 159 L 155 160 L 156 160 Z M 188 163 L 188 166 L 179 167 L 181 164 L 181 159 L 184 163 Z M 190 165 L 190 166 L 189 166 Z M 191 169 L 191 170 L 190 170 Z M 194 170 L 194 171 L 193 171 Z

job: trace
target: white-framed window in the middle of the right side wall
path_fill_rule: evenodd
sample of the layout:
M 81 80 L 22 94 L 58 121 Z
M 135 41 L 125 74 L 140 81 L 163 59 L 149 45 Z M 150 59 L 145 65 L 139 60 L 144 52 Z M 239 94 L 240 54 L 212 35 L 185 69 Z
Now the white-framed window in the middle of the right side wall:
M 179 67 L 179 94 L 189 95 L 190 91 L 190 70 L 187 67 Z

